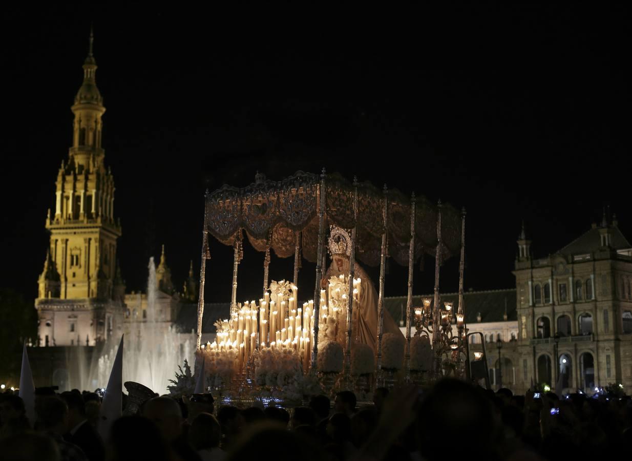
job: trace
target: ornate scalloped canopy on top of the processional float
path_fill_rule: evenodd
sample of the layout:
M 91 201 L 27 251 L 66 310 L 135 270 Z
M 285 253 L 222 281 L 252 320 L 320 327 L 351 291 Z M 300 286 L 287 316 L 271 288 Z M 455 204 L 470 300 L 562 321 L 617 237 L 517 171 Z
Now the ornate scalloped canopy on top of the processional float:
M 324 178 L 325 222 L 351 229 L 353 217 L 353 183 L 339 175 Z M 265 180 L 257 175 L 255 183 L 236 188 L 224 185 L 206 195 L 205 227 L 217 240 L 232 245 L 244 230 L 258 251 L 268 245 L 279 257 L 295 252 L 295 231 L 301 232 L 303 257 L 315 262 L 319 233 L 320 175 L 298 171 L 281 181 Z M 356 259 L 368 266 L 379 266 L 382 245 L 382 209 L 384 191 L 370 183 L 358 183 L 358 223 Z M 398 190 L 387 191 L 389 212 L 387 235 L 389 255 L 398 264 L 408 265 L 410 244 L 410 197 Z M 435 255 L 437 246 L 437 205 L 426 197 L 415 199 L 415 260 L 423 252 Z M 458 254 L 461 249 L 461 213 L 449 204 L 441 211 L 442 258 Z

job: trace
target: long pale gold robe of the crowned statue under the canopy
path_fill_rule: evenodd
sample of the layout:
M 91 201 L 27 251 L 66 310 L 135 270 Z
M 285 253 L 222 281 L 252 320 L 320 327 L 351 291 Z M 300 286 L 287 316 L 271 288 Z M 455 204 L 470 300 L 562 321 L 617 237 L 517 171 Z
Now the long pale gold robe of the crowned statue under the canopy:
M 346 264 L 348 266 L 348 264 Z M 340 274 L 348 276 L 349 273 L 341 273 L 336 267 L 336 264 L 331 264 L 327 273 L 325 274 L 325 280 L 329 280 L 332 276 L 337 277 Z M 379 323 L 379 316 L 377 312 L 377 298 L 378 294 L 375 290 L 373 282 L 369 278 L 368 274 L 360 264 L 355 264 L 354 277 L 360 278 L 360 300 L 358 302 L 358 312 L 353 312 L 353 340 L 358 341 L 361 344 L 368 344 L 377 353 L 377 324 Z M 401 330 L 393 320 L 393 317 L 384 307 L 384 328 L 382 333 L 395 333 L 396 335 L 402 335 Z

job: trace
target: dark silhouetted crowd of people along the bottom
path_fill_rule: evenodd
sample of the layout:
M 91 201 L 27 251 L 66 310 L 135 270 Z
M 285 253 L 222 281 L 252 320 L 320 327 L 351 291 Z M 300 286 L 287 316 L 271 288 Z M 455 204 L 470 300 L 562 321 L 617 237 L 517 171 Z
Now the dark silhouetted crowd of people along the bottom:
M 513 395 L 444 379 L 422 391 L 350 391 L 293 409 L 217 405 L 210 394 L 156 396 L 99 435 L 100 396 L 38 390 L 35 421 L 0 394 L 0 459 L 41 461 L 490 460 L 609 458 L 632 446 L 629 396 Z M 125 402 L 124 402 L 125 405 Z

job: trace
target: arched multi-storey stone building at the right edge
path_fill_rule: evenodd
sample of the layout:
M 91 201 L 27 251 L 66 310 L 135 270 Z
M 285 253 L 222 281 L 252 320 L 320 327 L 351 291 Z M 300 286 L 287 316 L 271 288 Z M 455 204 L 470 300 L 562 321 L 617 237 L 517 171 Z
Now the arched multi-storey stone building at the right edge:
M 590 392 L 623 383 L 632 392 L 632 245 L 616 218 L 555 254 L 535 259 L 525 232 L 513 271 L 518 364 L 538 383 Z M 559 381 L 558 381 L 559 380 Z M 526 387 L 525 387 L 526 386 Z

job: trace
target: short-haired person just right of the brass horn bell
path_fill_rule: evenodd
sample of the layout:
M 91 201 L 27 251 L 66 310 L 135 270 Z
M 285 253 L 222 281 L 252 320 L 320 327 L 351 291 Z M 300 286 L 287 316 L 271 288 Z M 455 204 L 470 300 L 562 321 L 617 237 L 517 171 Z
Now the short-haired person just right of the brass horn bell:
M 183 433 L 182 410 L 170 397 L 154 397 L 143 407 L 143 416 L 154 422 L 167 443 L 183 461 L 199 461 Z

